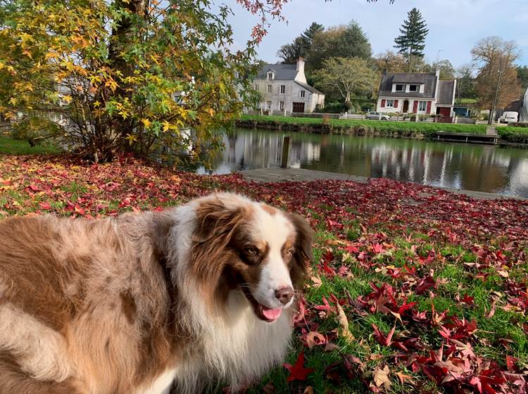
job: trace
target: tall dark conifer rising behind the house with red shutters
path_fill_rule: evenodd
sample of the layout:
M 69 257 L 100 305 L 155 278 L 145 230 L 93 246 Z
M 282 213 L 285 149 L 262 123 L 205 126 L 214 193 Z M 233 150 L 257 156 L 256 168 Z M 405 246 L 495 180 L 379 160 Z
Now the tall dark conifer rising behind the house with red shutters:
M 394 39 L 394 48 L 406 56 L 408 63 L 413 63 L 413 58 L 422 59 L 424 57 L 425 37 L 429 33 L 427 23 L 422 18 L 422 13 L 417 8 L 413 8 L 407 14 L 407 20 L 403 22 L 400 29 L 401 34 Z

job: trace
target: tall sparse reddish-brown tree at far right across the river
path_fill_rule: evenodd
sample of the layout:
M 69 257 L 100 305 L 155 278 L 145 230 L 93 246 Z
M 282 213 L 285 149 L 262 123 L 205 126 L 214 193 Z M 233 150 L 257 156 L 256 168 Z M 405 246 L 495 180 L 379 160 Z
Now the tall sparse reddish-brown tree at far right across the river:
M 471 54 L 479 65 L 475 87 L 479 104 L 489 109 L 491 124 L 496 108 L 503 108 L 521 96 L 515 66 L 520 52 L 516 42 L 486 37 L 477 42 Z

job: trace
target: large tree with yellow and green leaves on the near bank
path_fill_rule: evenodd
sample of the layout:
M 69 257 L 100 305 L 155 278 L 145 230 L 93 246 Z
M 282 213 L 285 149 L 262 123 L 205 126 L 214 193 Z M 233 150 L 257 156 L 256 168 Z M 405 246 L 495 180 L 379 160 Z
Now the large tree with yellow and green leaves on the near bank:
M 191 155 L 218 147 L 215 130 L 253 98 L 255 46 L 282 2 L 241 1 L 261 22 L 232 51 L 230 10 L 208 0 L 0 1 L 0 113 L 49 121 L 95 161 L 188 149 L 187 127 Z

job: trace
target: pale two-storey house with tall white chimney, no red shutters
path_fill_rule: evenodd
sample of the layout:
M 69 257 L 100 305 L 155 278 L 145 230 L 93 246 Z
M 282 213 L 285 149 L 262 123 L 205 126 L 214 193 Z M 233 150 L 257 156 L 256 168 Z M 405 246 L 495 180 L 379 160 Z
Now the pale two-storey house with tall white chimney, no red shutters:
M 325 105 L 325 95 L 306 83 L 303 58 L 297 64 L 263 65 L 253 84 L 262 94 L 263 110 L 305 113 Z

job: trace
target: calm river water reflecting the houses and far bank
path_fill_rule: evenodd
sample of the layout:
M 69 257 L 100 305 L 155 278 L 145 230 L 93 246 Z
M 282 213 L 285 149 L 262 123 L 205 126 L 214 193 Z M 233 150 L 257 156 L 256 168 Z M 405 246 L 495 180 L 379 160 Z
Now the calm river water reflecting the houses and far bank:
M 212 160 L 212 172 L 279 166 L 283 136 L 232 130 L 225 136 L 225 151 Z M 528 150 L 368 136 L 290 136 L 291 167 L 528 198 Z

